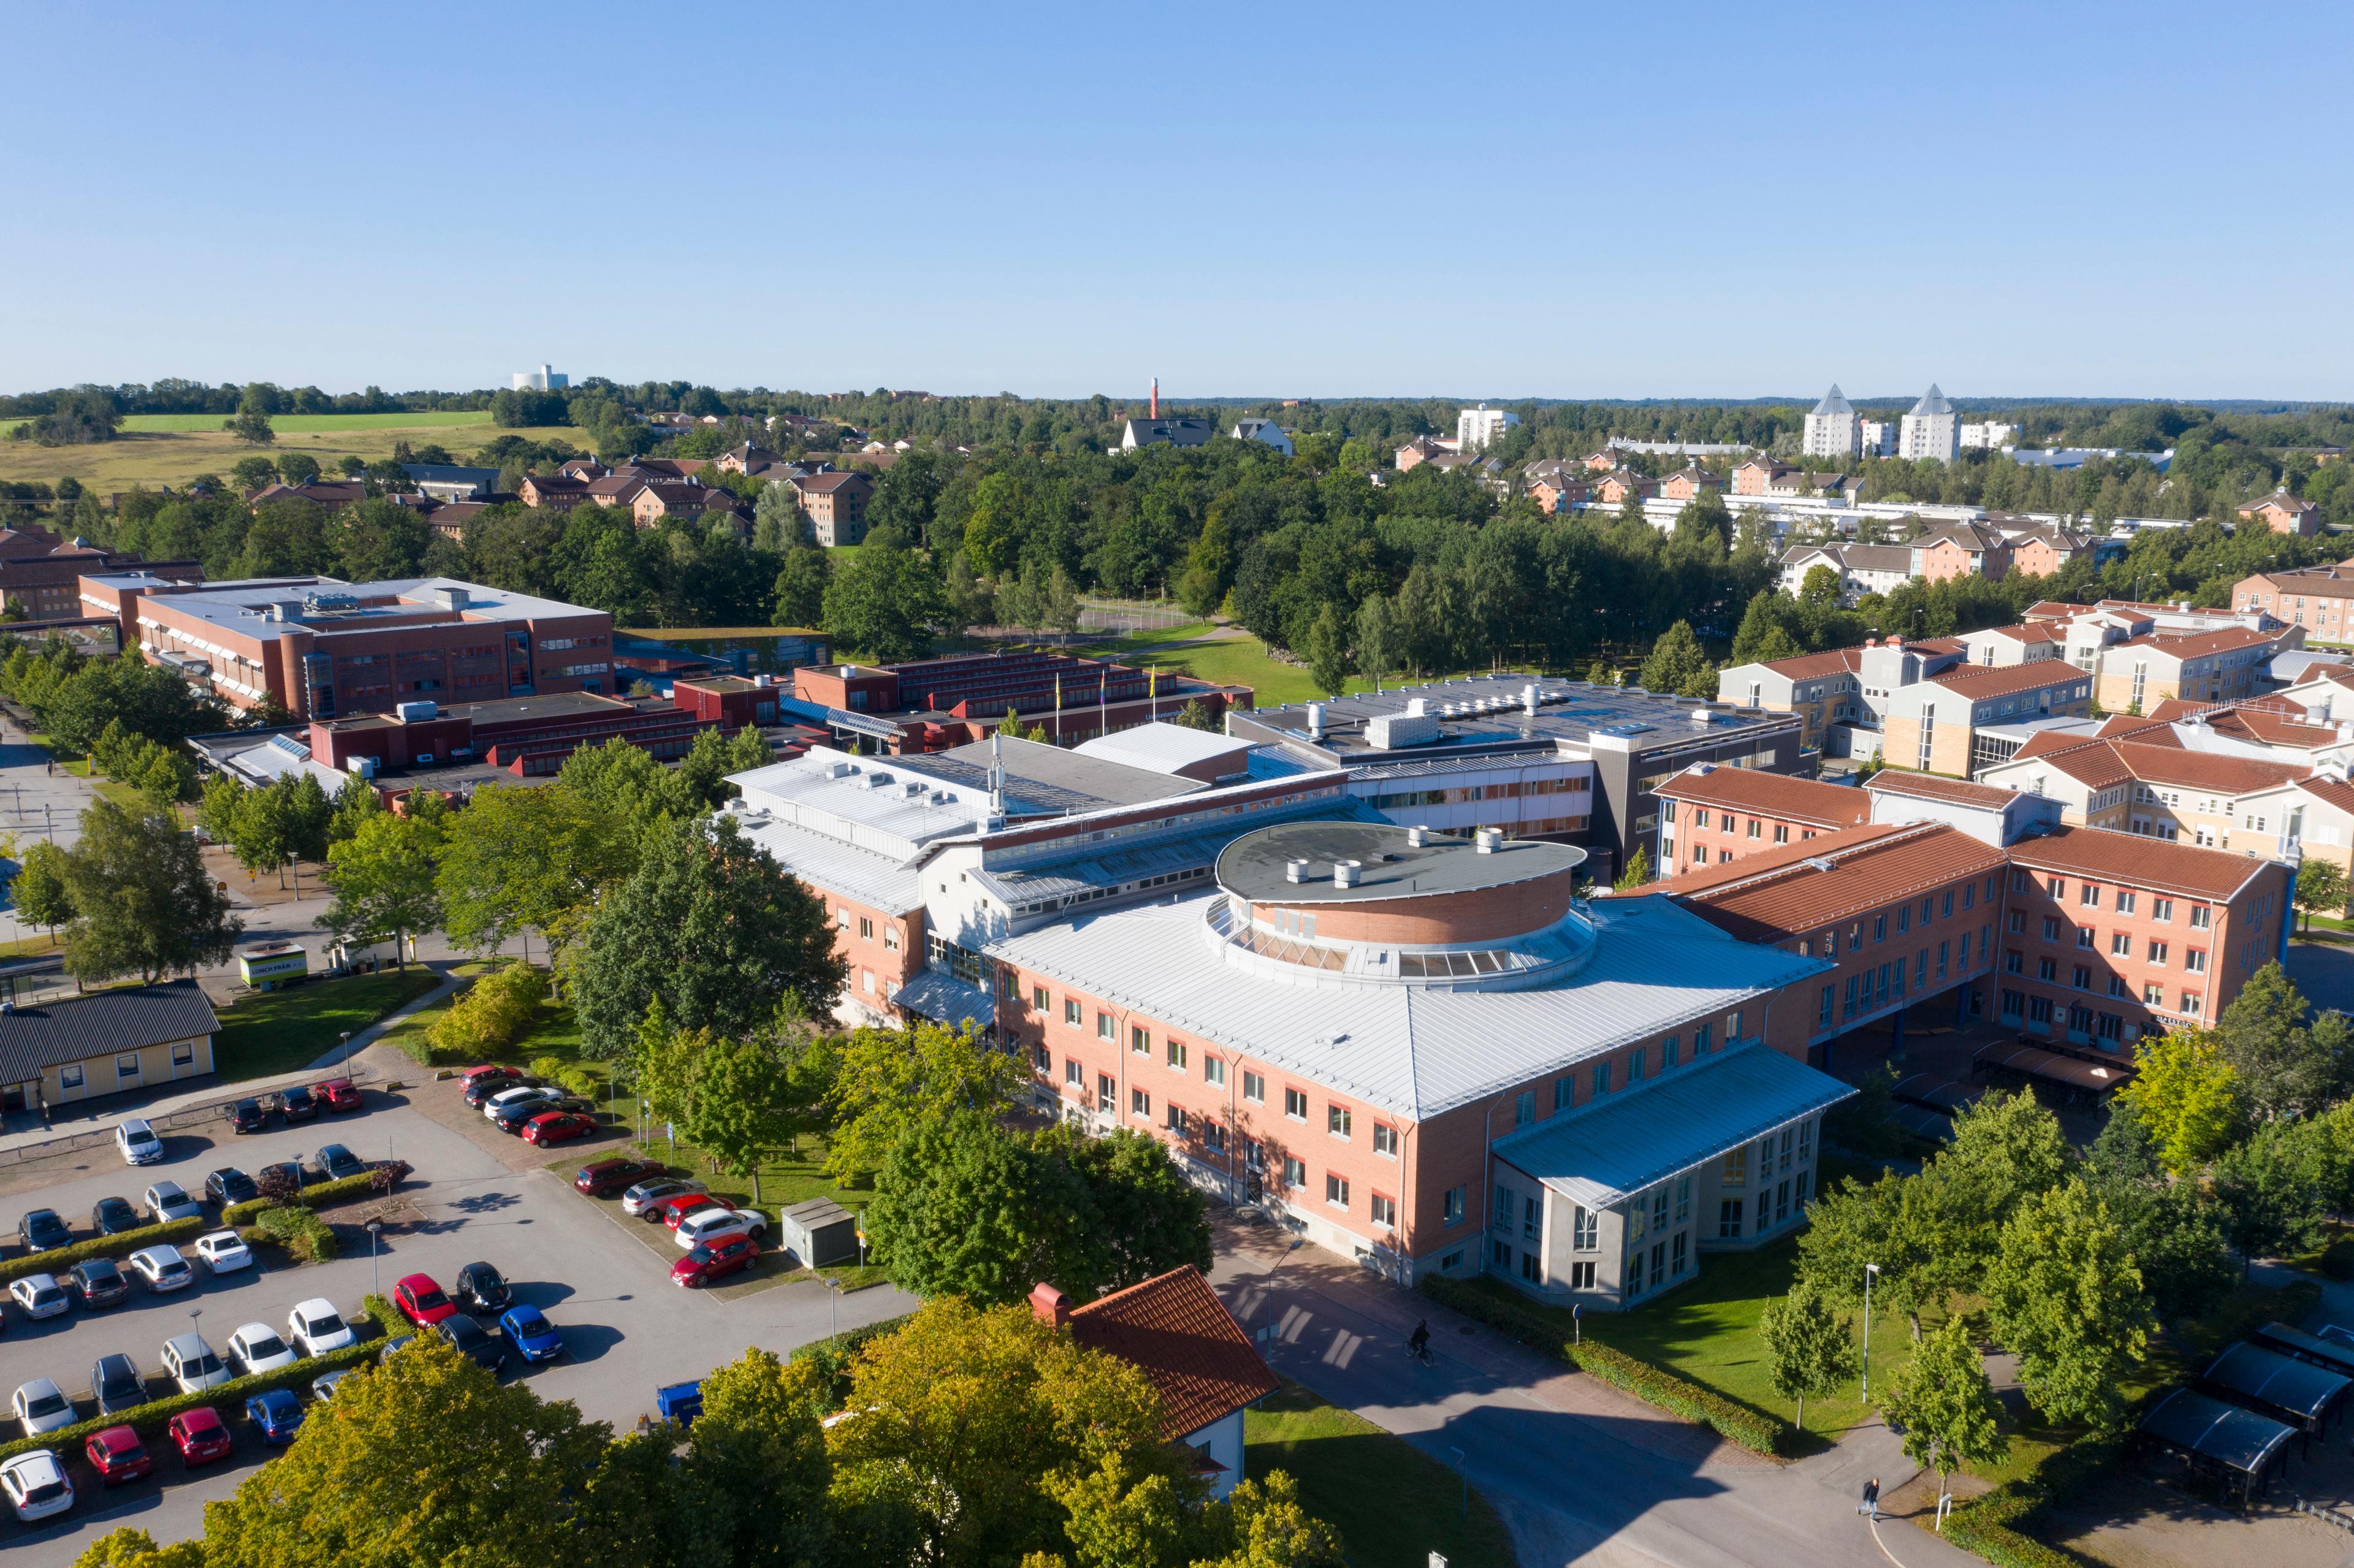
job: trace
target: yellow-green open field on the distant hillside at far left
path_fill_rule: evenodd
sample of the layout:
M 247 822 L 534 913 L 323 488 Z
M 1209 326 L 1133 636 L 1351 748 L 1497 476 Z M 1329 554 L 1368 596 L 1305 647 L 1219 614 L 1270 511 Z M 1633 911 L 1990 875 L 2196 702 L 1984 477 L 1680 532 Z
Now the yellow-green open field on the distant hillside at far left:
M 155 414 L 158 419 L 200 419 L 198 414 Z M 158 490 L 162 485 L 186 485 L 198 473 L 228 476 L 231 466 L 240 457 L 278 457 L 282 452 L 304 452 L 318 459 L 318 466 L 334 478 L 334 464 L 339 457 L 358 457 L 360 461 L 379 461 L 393 454 L 393 447 L 403 440 L 421 447 L 428 440 L 450 447 L 452 457 L 464 459 L 478 445 L 492 436 L 523 436 L 525 440 L 565 440 L 574 447 L 586 445 L 586 431 L 577 431 L 570 424 L 546 426 L 546 428 L 523 428 L 523 431 L 494 431 L 487 414 L 311 414 L 311 419 L 330 421 L 377 421 L 395 419 L 398 424 L 346 424 L 337 428 L 292 428 L 297 419 L 290 414 L 278 421 L 278 443 L 268 447 L 247 447 L 242 440 L 219 428 L 219 419 L 212 419 L 212 428 L 193 431 L 129 431 L 115 440 L 101 440 L 87 447 L 38 447 L 31 440 L 0 440 L 0 480 L 38 480 L 54 485 L 68 473 L 101 497 L 115 490 L 129 490 L 132 485 L 146 485 Z M 435 421 L 435 424 L 426 424 Z M 461 421 L 461 424 L 454 424 Z

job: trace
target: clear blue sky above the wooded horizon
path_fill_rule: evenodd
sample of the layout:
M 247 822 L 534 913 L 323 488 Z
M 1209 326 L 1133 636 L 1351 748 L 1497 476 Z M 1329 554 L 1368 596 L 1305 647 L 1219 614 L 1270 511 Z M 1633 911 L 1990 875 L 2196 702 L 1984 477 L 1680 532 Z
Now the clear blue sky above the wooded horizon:
M 2354 396 L 2354 7 L 9 12 L 0 391 Z

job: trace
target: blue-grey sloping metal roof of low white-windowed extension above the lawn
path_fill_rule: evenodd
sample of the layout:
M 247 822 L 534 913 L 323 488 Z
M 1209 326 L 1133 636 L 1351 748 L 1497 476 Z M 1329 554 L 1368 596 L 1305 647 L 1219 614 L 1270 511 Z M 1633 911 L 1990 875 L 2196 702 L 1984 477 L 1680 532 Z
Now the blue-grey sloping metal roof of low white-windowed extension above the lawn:
M 1608 1208 L 1853 1092 L 1763 1043 L 1740 1045 L 1499 1137 L 1495 1154 L 1572 1203 Z

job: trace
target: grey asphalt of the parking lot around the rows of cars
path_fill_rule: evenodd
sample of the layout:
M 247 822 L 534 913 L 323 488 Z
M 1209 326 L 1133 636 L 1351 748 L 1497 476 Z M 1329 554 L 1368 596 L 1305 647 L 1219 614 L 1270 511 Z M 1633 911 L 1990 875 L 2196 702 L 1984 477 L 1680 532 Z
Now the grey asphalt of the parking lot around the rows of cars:
M 165 1140 L 165 1163 L 129 1168 L 111 1149 L 80 1151 L 56 1161 L 9 1168 L 0 1180 L 0 1231 L 5 1253 L 16 1255 L 16 1217 L 33 1208 L 54 1208 L 75 1229 L 89 1234 L 89 1210 L 99 1198 L 122 1196 L 132 1203 L 160 1177 L 172 1177 L 200 1191 L 205 1172 L 235 1165 L 247 1175 L 290 1158 L 311 1158 L 320 1144 L 341 1142 L 360 1158 L 395 1156 L 414 1165 L 403 1187 L 417 1217 L 386 1231 L 381 1257 L 370 1257 L 365 1234 L 344 1234 L 344 1255 L 330 1264 L 247 1269 L 221 1278 L 198 1269 L 193 1288 L 153 1295 L 134 1288 L 115 1309 L 28 1321 L 9 1302 L 0 1333 L 0 1396 L 35 1377 L 52 1377 L 68 1394 L 87 1394 L 89 1368 L 99 1356 L 122 1351 L 148 1370 L 160 1394 L 162 1342 L 195 1328 L 226 1349 L 228 1335 L 242 1323 L 268 1323 L 285 1330 L 287 1311 L 308 1297 L 327 1297 L 337 1309 L 355 1314 L 360 1297 L 379 1288 L 391 1295 L 395 1278 L 431 1274 L 445 1288 L 468 1262 L 494 1264 L 516 1288 L 518 1302 L 548 1314 L 563 1330 L 565 1356 L 527 1373 L 534 1389 L 548 1398 L 570 1398 L 584 1415 L 614 1427 L 629 1427 L 650 1413 L 654 1389 L 669 1382 L 701 1377 L 746 1347 L 786 1351 L 829 1333 L 829 1309 L 838 1309 L 840 1328 L 913 1309 L 913 1300 L 890 1285 L 840 1295 L 812 1278 L 791 1278 L 753 1293 L 701 1293 L 671 1285 L 669 1257 L 631 1236 L 636 1220 L 619 1215 L 619 1203 L 591 1203 L 574 1194 L 565 1175 L 544 1170 L 553 1151 L 539 1151 L 520 1140 L 494 1132 L 478 1114 L 466 1111 L 454 1083 L 421 1083 L 386 1095 L 367 1092 L 363 1111 L 320 1116 L 306 1125 L 273 1125 L 266 1132 L 235 1137 L 226 1125 L 210 1135 L 174 1132 Z M 565 1172 L 598 1158 L 603 1144 L 577 1144 L 579 1161 Z M 49 1165 L 47 1170 L 42 1165 Z M 629 1231 L 619 1229 L 629 1227 Z M 501 1377 L 518 1377 L 511 1363 Z M 85 1415 L 89 1413 L 85 1401 Z M 151 1443 L 155 1476 L 101 1493 L 80 1455 L 68 1460 L 75 1483 L 75 1507 L 56 1521 L 21 1526 L 0 1523 L 0 1544 L 24 1549 L 12 1559 L 31 1566 L 71 1563 L 97 1535 L 137 1523 L 158 1540 L 177 1540 L 202 1528 L 202 1502 L 228 1495 L 261 1462 L 264 1450 L 245 1427 L 242 1410 L 221 1410 L 238 1431 L 238 1450 L 228 1462 L 188 1471 L 169 1443 Z M 16 1436 L 9 1424 L 7 1436 Z

